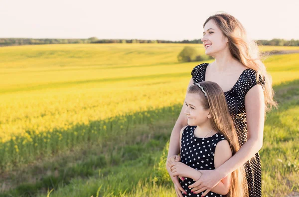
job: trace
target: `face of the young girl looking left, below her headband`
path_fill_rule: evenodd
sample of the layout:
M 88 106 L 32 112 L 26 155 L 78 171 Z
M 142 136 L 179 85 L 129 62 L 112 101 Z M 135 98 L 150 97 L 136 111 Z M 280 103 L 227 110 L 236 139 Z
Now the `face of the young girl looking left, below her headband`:
M 199 95 L 187 93 L 184 104 L 187 106 L 184 113 L 187 115 L 188 125 L 203 125 L 211 118 L 210 109 L 203 108 Z

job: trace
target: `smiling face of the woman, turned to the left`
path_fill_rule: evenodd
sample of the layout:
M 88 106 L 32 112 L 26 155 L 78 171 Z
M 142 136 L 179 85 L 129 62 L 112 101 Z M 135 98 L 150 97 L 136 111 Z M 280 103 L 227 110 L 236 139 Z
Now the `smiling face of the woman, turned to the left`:
M 228 48 L 228 38 L 222 33 L 213 19 L 205 24 L 201 41 L 206 50 L 206 55 L 209 56 L 215 57 L 219 51 Z

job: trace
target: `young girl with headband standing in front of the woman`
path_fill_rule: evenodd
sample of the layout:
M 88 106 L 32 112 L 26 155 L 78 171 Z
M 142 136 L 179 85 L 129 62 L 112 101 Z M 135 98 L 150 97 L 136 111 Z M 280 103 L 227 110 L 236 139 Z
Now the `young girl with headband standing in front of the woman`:
M 189 87 L 185 105 L 188 125 L 180 132 L 181 162 L 170 164 L 172 176 L 179 180 L 185 197 L 199 197 L 188 188 L 197 181 L 198 170 L 213 170 L 221 166 L 239 150 L 237 133 L 226 105 L 221 87 L 203 81 Z M 222 179 L 207 197 L 247 197 L 244 168 L 241 167 Z

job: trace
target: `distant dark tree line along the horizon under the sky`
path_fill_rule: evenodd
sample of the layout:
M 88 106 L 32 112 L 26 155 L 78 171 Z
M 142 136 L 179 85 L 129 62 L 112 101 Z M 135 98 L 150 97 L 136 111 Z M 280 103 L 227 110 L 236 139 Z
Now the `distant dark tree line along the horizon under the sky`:
M 272 39 L 272 40 L 256 40 L 259 45 L 272 46 L 299 46 L 299 40 L 291 39 Z M 142 39 L 98 39 L 97 37 L 90 37 L 87 39 L 52 39 L 52 38 L 0 38 L 0 46 L 13 45 L 30 45 L 30 44 L 75 44 L 75 43 L 194 43 L 201 44 L 200 39 L 194 40 L 142 40 Z

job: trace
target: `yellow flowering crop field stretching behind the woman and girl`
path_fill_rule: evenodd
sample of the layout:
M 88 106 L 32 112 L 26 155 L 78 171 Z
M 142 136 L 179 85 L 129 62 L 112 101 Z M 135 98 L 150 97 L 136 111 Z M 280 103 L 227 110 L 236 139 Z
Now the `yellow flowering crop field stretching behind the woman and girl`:
M 204 53 L 200 44 L 1 47 L 0 172 L 173 115 L 192 68 L 202 63 L 178 63 L 184 46 Z M 297 54 L 265 64 L 275 84 L 299 78 Z

